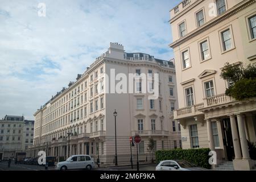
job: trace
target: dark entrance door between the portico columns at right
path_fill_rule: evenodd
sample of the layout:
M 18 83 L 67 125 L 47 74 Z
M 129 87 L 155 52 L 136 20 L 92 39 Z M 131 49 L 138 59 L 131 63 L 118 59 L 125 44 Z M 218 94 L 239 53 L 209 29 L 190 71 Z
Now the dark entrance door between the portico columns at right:
M 232 161 L 234 158 L 234 146 L 233 146 L 233 138 L 232 131 L 230 125 L 230 119 L 223 119 L 223 129 L 224 129 L 224 146 L 226 147 L 226 156 L 229 161 Z

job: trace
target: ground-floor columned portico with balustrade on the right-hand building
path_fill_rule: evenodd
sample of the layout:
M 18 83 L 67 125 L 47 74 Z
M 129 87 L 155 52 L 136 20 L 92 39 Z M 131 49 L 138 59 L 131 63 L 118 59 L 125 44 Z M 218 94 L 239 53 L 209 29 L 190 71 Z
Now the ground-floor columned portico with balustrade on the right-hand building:
M 209 104 L 203 103 L 196 111 L 175 111 L 175 118 L 181 124 L 183 148 L 193 147 L 190 126 L 197 126 L 198 144 L 200 148 L 216 151 L 217 165 L 225 161 L 233 161 L 235 170 L 250 170 L 255 162 L 250 158 L 247 142 L 256 142 L 256 100 L 230 100 Z M 225 101 L 225 102 L 224 102 Z M 195 107 L 195 106 L 192 106 Z M 184 110 L 184 109 L 183 109 Z M 178 113 L 180 112 L 180 113 Z

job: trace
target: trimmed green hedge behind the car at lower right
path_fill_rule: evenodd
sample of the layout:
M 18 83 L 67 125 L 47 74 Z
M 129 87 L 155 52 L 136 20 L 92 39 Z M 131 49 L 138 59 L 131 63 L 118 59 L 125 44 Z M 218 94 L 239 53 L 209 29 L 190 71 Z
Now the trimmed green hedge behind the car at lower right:
M 209 152 L 209 148 L 159 150 L 155 152 L 155 157 L 157 163 L 162 160 L 187 160 L 197 166 L 210 169 Z

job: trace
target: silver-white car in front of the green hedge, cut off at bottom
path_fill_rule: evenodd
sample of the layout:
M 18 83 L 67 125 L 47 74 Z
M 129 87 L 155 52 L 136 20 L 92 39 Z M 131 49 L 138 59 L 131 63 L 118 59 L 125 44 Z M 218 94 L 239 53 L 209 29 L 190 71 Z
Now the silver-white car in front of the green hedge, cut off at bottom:
M 187 160 L 163 160 L 155 168 L 156 171 L 206 171 L 203 167 L 187 162 Z

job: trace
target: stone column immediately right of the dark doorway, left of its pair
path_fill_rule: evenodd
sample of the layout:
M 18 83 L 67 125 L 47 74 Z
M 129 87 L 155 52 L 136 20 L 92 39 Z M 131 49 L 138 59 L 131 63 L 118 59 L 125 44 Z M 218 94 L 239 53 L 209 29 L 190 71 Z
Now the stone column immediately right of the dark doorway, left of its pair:
M 230 115 L 229 118 L 230 118 L 230 125 L 231 125 L 231 131 L 232 131 L 235 159 L 242 159 L 240 142 L 239 142 L 238 132 L 237 132 L 236 118 L 234 115 Z

